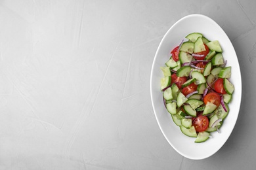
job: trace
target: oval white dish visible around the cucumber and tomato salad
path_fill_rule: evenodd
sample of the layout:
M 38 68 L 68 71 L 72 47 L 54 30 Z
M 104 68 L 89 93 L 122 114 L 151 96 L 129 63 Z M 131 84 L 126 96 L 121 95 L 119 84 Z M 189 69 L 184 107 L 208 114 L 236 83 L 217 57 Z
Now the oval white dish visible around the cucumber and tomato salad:
M 218 40 L 223 48 L 223 57 L 227 60 L 226 66 L 232 67 L 230 81 L 235 86 L 232 102 L 228 105 L 230 112 L 221 127 L 221 133 L 217 131 L 211 133 L 213 138 L 205 143 L 194 143 L 195 138 L 183 135 L 180 128 L 176 126 L 163 105 L 162 92 L 160 91 L 160 79 L 163 77 L 160 67 L 170 58 L 170 52 L 179 45 L 186 35 L 193 32 L 203 33 L 203 35 L 213 41 Z M 192 14 L 181 18 L 165 34 L 156 52 L 153 61 L 150 77 L 150 93 L 153 109 L 158 125 L 165 136 L 165 139 L 182 156 L 192 160 L 202 160 L 217 152 L 226 142 L 238 118 L 242 97 L 242 80 L 240 67 L 236 52 L 230 39 L 223 29 L 211 18 L 201 14 Z

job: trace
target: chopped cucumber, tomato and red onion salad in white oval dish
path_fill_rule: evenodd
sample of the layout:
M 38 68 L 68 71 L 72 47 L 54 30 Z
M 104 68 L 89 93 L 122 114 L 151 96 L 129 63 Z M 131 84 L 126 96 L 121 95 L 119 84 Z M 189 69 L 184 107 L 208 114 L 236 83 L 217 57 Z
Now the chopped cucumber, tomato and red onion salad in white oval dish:
M 202 143 L 218 131 L 228 115 L 234 85 L 219 41 L 190 33 L 160 67 L 163 103 L 173 122 L 188 137 Z

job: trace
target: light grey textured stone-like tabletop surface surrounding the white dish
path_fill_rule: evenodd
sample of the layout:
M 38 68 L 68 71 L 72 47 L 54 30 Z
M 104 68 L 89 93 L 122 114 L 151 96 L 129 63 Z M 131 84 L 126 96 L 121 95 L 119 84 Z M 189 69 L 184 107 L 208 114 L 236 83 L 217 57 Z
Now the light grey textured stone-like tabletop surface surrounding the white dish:
M 0 169 L 253 169 L 255 7 L 250 0 L 0 1 Z M 223 27 L 243 81 L 234 131 L 199 161 L 167 143 L 150 100 L 161 38 L 194 13 Z

